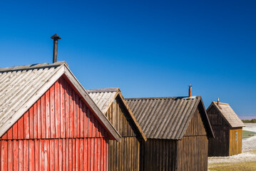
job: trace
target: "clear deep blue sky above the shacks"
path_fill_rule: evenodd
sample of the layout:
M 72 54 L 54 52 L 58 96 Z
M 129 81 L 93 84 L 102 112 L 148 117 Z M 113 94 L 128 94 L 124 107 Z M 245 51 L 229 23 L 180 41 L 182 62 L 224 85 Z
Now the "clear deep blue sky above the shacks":
M 1 1 L 0 67 L 66 61 L 125 98 L 220 98 L 256 116 L 256 1 Z

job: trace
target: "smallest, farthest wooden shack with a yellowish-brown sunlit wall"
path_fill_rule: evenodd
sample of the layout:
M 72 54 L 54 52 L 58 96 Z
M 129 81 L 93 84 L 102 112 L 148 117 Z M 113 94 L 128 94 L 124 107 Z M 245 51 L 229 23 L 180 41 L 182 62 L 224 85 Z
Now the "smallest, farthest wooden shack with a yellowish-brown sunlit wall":
M 215 138 L 209 140 L 209 156 L 229 156 L 242 152 L 245 125 L 227 103 L 213 102 L 207 109 Z

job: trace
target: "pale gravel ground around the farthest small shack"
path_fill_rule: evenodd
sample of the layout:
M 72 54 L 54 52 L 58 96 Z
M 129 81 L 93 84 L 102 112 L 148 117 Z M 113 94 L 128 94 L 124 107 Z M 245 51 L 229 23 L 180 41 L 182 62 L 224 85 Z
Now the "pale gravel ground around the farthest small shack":
M 256 133 L 256 123 L 245 123 L 245 128 Z M 256 150 L 256 136 L 242 140 L 242 153 L 239 155 L 232 155 L 228 157 L 208 157 L 208 164 L 221 162 L 252 162 L 256 161 L 256 153 L 250 152 Z

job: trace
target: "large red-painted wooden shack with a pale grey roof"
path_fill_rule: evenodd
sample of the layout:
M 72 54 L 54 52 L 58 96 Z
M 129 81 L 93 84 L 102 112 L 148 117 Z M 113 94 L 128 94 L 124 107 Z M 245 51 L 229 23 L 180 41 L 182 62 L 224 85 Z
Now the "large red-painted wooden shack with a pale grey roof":
M 0 68 L 0 170 L 108 170 L 121 140 L 65 62 Z

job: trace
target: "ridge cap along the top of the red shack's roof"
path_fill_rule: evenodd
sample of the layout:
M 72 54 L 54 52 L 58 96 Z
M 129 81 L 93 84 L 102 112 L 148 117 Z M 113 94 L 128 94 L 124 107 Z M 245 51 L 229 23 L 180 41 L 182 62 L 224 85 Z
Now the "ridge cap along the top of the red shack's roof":
M 58 67 L 65 64 L 68 66 L 66 61 L 58 61 L 56 63 L 35 63 L 30 65 L 24 65 L 24 66 L 11 66 L 6 68 L 0 68 L 0 72 L 9 72 L 9 71 L 22 71 L 22 70 L 31 70 L 36 68 L 52 68 L 52 67 Z

